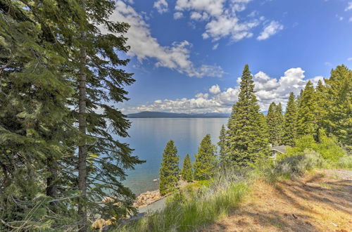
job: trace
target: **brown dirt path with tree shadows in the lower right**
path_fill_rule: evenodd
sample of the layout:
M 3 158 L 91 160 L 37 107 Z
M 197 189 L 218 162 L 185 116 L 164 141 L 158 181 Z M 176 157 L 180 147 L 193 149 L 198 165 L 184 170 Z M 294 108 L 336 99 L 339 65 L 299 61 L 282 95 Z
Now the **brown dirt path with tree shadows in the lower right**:
M 258 181 L 230 217 L 203 231 L 352 231 L 352 171 L 323 170 L 273 186 Z

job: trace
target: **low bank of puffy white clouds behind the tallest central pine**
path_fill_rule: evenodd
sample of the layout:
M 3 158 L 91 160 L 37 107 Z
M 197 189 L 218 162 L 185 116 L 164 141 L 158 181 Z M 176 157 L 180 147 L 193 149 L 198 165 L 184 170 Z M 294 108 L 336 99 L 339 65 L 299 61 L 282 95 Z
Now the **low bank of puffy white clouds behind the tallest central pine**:
M 289 94 L 294 92 L 297 96 L 304 89 L 308 79 L 304 79 L 304 70 L 301 67 L 290 68 L 279 78 L 269 77 L 265 72 L 253 75 L 256 96 L 261 110 L 268 110 L 270 103 L 287 103 Z M 323 77 L 309 79 L 316 86 Z M 239 83 L 241 79 L 237 79 Z M 209 97 L 211 94 L 211 97 Z M 207 93 L 196 94 L 194 98 L 179 98 L 176 100 L 158 100 L 149 105 L 140 105 L 130 108 L 130 112 L 138 111 L 167 111 L 167 112 L 231 112 L 232 105 L 237 101 L 239 86 L 220 91 L 220 86 L 213 85 Z

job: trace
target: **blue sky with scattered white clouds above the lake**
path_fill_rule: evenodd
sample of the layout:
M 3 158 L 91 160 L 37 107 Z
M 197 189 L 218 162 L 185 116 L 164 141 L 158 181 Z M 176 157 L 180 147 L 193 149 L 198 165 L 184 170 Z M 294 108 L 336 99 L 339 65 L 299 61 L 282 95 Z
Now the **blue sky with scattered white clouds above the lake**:
M 123 112 L 230 112 L 248 63 L 260 108 L 352 66 L 351 0 L 118 0 L 130 23 Z

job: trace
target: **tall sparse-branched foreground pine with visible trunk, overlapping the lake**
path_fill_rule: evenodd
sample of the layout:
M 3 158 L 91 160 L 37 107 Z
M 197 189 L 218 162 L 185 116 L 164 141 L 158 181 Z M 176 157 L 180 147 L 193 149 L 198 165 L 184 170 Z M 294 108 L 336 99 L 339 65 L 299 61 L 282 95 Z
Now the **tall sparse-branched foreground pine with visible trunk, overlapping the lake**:
M 130 60 L 120 58 L 129 50 L 124 37 L 129 25 L 107 20 L 115 9 L 115 1 L 102 0 L 97 4 L 80 0 L 72 7 L 77 17 L 67 25 L 72 30 L 65 39 L 72 40 L 70 56 L 75 60 L 68 69 L 76 80 L 72 108 L 78 108 L 78 112 L 73 110 L 71 116 L 80 129 L 76 142 L 80 147 L 77 187 L 87 195 L 80 198 L 78 210 L 81 231 L 85 231 L 87 214 L 94 217 L 101 212 L 125 215 L 134 211 L 135 196 L 121 181 L 125 179 L 125 169 L 142 161 L 132 155 L 127 143 L 120 142 L 121 137 L 128 136 L 130 121 L 116 107 L 128 100 L 125 86 L 134 82 L 132 74 L 122 69 Z M 115 202 L 101 204 L 107 196 Z

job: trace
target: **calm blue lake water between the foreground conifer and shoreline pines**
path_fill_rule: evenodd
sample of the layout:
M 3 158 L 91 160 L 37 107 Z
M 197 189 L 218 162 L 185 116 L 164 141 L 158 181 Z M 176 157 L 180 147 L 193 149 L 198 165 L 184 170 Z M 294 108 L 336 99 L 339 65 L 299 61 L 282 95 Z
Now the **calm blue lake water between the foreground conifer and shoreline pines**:
M 213 144 L 218 143 L 222 124 L 227 124 L 227 118 L 132 118 L 130 121 L 130 138 L 125 141 L 134 148 L 134 155 L 146 160 L 127 171 L 124 184 L 135 194 L 158 188 L 153 179 L 158 179 L 163 150 L 170 139 L 175 141 L 182 167 L 187 153 L 194 161 L 194 154 L 206 134 L 210 134 Z

